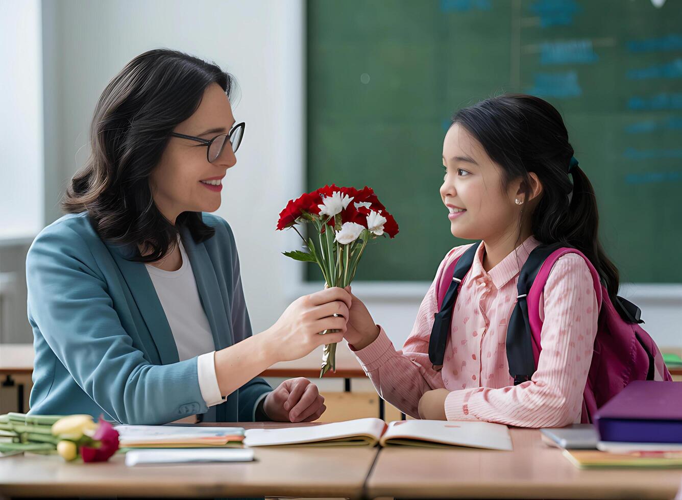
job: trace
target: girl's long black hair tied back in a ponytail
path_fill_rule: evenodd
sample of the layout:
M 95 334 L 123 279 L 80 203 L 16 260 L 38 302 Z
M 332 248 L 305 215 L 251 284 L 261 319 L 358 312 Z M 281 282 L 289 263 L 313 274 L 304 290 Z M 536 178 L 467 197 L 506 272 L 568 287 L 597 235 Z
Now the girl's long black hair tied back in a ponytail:
M 528 187 L 529 172 L 537 175 L 543 192 L 531 215 L 533 235 L 541 243 L 562 243 L 584 253 L 616 303 L 619 273 L 599 243 L 595 192 L 578 166 L 568 173 L 574 150 L 556 108 L 533 95 L 506 94 L 463 108 L 452 121 L 502 167 L 504 187 L 518 178 Z

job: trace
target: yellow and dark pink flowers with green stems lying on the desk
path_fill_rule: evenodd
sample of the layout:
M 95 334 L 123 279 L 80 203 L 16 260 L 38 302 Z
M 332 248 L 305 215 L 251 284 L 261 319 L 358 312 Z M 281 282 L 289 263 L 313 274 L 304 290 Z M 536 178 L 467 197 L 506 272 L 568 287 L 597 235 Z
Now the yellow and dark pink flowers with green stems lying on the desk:
M 59 454 L 67 461 L 105 462 L 119 449 L 119 433 L 89 415 L 0 415 L 0 453 Z

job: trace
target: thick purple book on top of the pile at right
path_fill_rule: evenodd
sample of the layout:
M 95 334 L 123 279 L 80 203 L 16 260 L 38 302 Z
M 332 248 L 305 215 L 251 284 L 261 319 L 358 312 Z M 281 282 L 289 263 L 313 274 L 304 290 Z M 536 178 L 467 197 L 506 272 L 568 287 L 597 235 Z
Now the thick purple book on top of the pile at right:
M 682 443 L 682 383 L 636 380 L 595 415 L 602 441 Z

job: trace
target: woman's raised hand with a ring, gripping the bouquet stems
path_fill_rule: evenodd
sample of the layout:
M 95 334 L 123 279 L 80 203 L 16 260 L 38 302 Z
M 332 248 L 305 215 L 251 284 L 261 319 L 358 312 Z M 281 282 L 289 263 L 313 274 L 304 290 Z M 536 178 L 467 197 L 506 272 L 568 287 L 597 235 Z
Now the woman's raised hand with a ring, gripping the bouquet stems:
M 342 341 L 350 307 L 351 295 L 339 287 L 298 298 L 273 326 L 263 332 L 273 358 L 278 361 L 297 360 L 320 345 Z M 333 329 L 339 332 L 319 334 Z

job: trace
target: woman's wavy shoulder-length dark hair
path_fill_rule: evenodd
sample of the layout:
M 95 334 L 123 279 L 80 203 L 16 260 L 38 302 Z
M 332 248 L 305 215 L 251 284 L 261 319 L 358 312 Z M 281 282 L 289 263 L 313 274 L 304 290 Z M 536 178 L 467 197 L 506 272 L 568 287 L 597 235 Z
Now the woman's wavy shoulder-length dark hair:
M 135 252 L 130 260 L 138 262 L 166 255 L 181 225 L 197 243 L 213 236 L 201 213 L 181 213 L 175 225 L 168 221 L 153 202 L 149 174 L 170 132 L 196 111 L 214 82 L 230 97 L 231 75 L 175 50 L 149 50 L 125 65 L 100 96 L 90 127 L 91 155 L 66 189 L 63 210 L 87 210 L 103 240 L 151 252 Z

